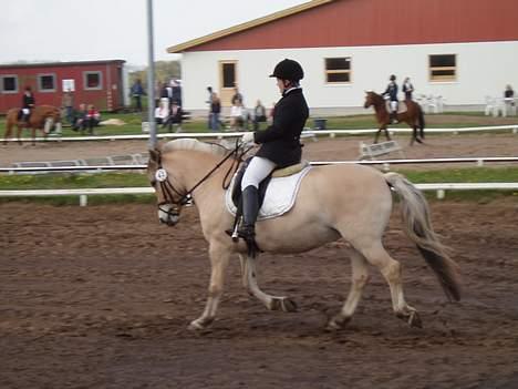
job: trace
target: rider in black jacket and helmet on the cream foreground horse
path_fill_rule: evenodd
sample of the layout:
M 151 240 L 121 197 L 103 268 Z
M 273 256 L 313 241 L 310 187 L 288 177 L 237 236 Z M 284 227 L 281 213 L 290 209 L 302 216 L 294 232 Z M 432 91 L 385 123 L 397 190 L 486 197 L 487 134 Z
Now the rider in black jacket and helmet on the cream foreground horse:
M 253 242 L 255 224 L 259 212 L 258 187 L 274 168 L 297 164 L 301 160 L 300 133 L 309 116 L 299 81 L 303 79 L 302 66 L 286 59 L 273 69 L 271 78 L 277 78 L 277 86 L 282 98 L 276 104 L 272 124 L 265 131 L 247 132 L 244 143 L 260 144 L 251 158 L 241 181 L 244 224 L 239 236 L 247 243 Z

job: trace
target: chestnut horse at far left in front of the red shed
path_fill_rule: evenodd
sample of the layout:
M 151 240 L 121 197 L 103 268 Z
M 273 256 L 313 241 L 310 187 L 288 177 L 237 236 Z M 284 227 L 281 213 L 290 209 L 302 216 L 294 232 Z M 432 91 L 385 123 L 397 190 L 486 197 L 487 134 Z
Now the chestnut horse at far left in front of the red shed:
M 20 135 L 23 129 L 32 130 L 32 145 L 34 145 L 37 130 L 43 131 L 44 139 L 46 139 L 53 125 L 56 126 L 56 132 L 61 133 L 61 113 L 60 110 L 55 106 L 35 106 L 34 109 L 32 109 L 29 122 L 22 121 L 21 119 L 19 119 L 20 116 L 20 109 L 18 108 L 8 111 L 6 115 L 6 134 L 3 135 L 3 144 L 7 144 L 8 137 L 11 136 L 13 126 L 18 127 L 17 137 L 19 144 L 22 143 Z

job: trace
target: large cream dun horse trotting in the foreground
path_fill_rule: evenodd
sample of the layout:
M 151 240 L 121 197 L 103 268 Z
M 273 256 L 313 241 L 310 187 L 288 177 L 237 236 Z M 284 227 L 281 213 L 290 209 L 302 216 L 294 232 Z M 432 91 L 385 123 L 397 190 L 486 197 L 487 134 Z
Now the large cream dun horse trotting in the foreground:
M 236 161 L 224 161 L 221 150 L 219 145 L 183 139 L 149 153 L 147 173 L 157 195 L 159 221 L 167 225 L 178 223 L 183 205 L 191 197 L 209 245 L 208 299 L 190 329 L 204 329 L 215 319 L 225 270 L 236 254 L 241 260 L 244 286 L 251 295 L 271 310 L 297 309 L 289 297 L 271 296 L 259 288 L 256 258 L 247 256 L 244 242 L 234 243 L 225 232 L 232 226 L 234 217 L 225 205 L 222 182 Z M 387 281 L 395 315 L 411 326 L 421 326 L 417 310 L 403 294 L 401 265 L 382 244 L 392 212 L 391 188 L 400 195 L 406 234 L 436 274 L 446 296 L 458 300 L 457 265 L 432 228 L 425 197 L 400 174 L 382 174 L 361 165 L 311 167 L 301 182 L 293 208 L 256 225 L 257 244 L 263 252 L 301 253 L 339 238 L 349 242 L 350 248 L 336 254 L 351 258 L 351 290 L 341 311 L 330 319 L 330 329 L 342 328 L 352 318 L 369 280 L 369 265 L 376 267 Z

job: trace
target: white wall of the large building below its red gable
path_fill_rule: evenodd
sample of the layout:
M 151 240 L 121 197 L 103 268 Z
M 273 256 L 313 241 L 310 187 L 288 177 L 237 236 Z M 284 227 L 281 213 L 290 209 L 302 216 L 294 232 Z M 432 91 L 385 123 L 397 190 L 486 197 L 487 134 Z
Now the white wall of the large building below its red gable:
M 428 55 L 456 54 L 457 81 L 429 82 Z M 324 83 L 324 58 L 351 57 L 352 82 Z M 400 84 L 411 76 L 415 93 L 439 94 L 450 105 L 479 105 L 485 95 L 499 96 L 506 84 L 518 90 L 518 41 L 484 43 L 414 44 L 354 48 L 313 48 L 239 51 L 200 51 L 183 55 L 183 93 L 187 110 L 206 110 L 207 86 L 219 90 L 218 61 L 237 60 L 237 80 L 245 104 L 257 99 L 269 108 L 279 99 L 276 81 L 269 79 L 277 62 L 299 61 L 305 71 L 302 86 L 315 109 L 360 108 L 364 91 L 383 92 L 390 74 Z M 403 94 L 401 94 L 403 98 Z

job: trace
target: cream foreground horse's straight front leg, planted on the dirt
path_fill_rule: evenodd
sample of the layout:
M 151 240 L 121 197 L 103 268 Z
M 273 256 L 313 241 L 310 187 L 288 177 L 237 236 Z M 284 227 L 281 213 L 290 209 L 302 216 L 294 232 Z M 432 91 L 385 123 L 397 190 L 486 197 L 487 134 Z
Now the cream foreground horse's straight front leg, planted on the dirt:
M 207 304 L 201 316 L 190 323 L 188 328 L 191 330 L 205 329 L 216 317 L 225 283 L 225 272 L 230 258 L 230 250 L 227 246 L 213 242 L 210 243 L 209 256 L 211 270 Z

